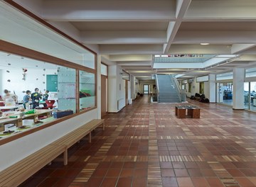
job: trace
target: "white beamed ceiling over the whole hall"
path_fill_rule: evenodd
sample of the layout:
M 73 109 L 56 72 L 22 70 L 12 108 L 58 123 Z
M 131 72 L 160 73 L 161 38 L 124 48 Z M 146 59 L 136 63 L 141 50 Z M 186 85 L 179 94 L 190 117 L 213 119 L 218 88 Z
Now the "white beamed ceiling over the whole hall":
M 156 72 L 198 77 L 256 67 L 255 0 L 16 2 L 82 44 L 96 46 L 107 62 L 116 62 L 137 79 L 151 79 Z M 208 69 L 153 69 L 152 55 L 160 54 L 240 56 Z

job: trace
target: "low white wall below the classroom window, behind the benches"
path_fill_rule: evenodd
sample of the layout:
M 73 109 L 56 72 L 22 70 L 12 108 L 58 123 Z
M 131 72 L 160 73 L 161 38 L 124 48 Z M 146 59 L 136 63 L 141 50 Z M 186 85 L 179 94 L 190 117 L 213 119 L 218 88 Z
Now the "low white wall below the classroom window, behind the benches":
M 97 109 L 1 145 L 0 171 L 94 118 L 97 118 Z

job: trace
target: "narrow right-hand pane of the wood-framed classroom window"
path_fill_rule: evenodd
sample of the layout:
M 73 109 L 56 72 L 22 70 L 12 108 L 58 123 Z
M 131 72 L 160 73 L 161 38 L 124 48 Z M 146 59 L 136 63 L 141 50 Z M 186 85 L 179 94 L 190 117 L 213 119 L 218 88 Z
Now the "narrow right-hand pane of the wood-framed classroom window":
M 95 74 L 79 71 L 80 111 L 95 106 Z

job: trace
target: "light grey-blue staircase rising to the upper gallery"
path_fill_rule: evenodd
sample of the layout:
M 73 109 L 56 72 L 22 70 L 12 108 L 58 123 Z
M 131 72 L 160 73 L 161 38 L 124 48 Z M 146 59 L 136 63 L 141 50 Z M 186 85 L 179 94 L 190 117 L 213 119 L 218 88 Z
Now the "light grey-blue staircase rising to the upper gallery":
M 170 75 L 156 75 L 157 86 L 159 90 L 159 103 L 180 103 L 181 98 L 176 89 L 175 78 Z

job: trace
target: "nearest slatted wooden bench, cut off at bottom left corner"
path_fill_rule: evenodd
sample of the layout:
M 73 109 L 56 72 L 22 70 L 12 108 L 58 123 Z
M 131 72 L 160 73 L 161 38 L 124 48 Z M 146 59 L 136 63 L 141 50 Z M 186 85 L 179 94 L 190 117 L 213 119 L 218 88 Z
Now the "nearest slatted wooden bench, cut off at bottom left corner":
M 46 145 L 46 147 L 1 171 L 0 186 L 18 186 L 63 152 L 65 152 L 64 145 Z

